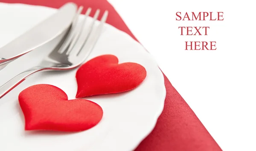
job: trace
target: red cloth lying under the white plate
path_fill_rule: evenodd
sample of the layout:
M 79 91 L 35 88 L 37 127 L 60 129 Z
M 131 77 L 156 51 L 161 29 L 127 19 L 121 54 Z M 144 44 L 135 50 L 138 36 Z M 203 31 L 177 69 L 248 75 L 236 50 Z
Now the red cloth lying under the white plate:
M 3 3 L 26 3 L 53 8 L 59 8 L 70 1 L 84 6 L 84 11 L 87 7 L 93 8 L 91 14 L 94 14 L 96 8 L 100 8 L 102 12 L 108 10 L 107 22 L 137 40 L 107 0 L 0 0 Z M 165 75 L 164 79 L 166 99 L 163 113 L 158 118 L 154 130 L 135 151 L 221 151 L 221 148 Z

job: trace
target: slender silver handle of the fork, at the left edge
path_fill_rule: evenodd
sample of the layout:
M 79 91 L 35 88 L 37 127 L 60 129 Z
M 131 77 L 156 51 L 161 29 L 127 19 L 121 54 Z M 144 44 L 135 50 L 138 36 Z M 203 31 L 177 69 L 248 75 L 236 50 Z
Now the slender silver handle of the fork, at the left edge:
M 10 92 L 15 87 L 17 87 L 17 85 L 19 85 L 21 82 L 23 82 L 28 76 L 30 76 L 31 74 L 38 72 L 40 70 L 42 70 L 42 67 L 32 67 L 29 70 L 26 70 L 26 71 L 18 74 L 17 76 L 15 76 L 11 80 L 9 80 L 5 84 L 3 84 L 0 87 L 0 98 L 2 98 L 4 95 L 6 95 L 8 92 Z

